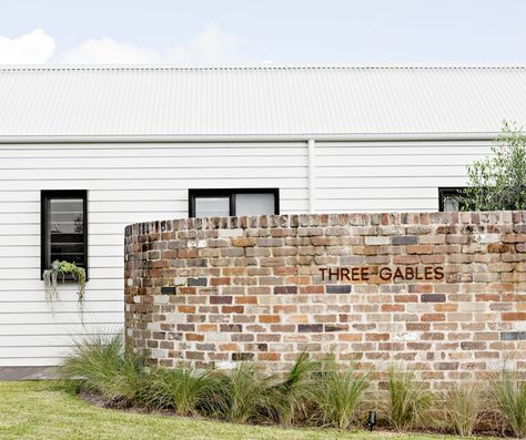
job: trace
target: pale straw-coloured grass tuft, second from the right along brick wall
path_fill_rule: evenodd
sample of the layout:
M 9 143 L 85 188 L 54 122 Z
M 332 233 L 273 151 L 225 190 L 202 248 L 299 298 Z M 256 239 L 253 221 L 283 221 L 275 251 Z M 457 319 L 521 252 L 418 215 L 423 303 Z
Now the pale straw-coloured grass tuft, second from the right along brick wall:
M 444 401 L 445 419 L 455 433 L 471 436 L 485 409 L 485 399 L 476 383 L 458 383 L 448 390 Z

